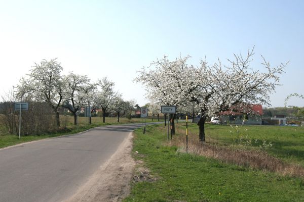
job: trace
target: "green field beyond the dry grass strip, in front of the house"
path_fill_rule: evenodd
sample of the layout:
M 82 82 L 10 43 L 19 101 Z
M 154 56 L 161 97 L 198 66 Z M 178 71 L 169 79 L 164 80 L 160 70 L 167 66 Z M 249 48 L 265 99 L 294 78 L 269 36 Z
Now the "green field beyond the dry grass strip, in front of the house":
M 197 132 L 191 125 L 190 131 Z M 238 131 L 237 131 L 238 130 Z M 288 162 L 296 162 L 304 167 L 304 127 L 293 126 L 239 126 L 207 125 L 207 141 L 216 140 L 221 145 L 238 145 L 238 138 L 252 139 L 251 149 L 258 149 L 262 140 L 272 143 L 267 152 Z M 194 137 L 195 138 L 195 137 Z M 255 143 L 255 140 L 258 140 Z

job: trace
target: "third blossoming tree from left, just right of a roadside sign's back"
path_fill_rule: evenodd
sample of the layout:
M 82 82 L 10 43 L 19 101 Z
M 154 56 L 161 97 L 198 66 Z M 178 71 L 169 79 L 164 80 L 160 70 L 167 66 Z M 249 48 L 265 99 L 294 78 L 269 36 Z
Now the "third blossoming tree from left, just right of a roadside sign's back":
M 97 94 L 95 97 L 95 103 L 102 110 L 102 122 L 105 123 L 105 114 L 108 108 L 113 102 L 115 102 L 118 92 L 114 90 L 115 83 L 109 81 L 107 77 L 98 80 L 97 82 Z

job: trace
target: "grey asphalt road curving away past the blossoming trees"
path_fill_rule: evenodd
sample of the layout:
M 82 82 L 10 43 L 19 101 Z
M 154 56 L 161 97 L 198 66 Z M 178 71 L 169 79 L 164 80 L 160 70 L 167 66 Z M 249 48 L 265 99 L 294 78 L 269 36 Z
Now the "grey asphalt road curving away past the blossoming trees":
M 140 126 L 104 126 L 1 149 L 0 201 L 53 202 L 67 198 Z

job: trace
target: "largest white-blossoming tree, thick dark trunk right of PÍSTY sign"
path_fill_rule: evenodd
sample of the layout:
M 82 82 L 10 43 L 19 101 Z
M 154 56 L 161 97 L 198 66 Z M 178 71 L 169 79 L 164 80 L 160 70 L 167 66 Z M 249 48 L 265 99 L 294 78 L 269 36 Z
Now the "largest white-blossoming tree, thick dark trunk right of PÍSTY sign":
M 165 56 L 155 69 L 140 71 L 137 80 L 145 85 L 148 97 L 179 105 L 195 103 L 201 113 L 199 138 L 205 141 L 208 116 L 252 104 L 270 104 L 269 94 L 279 85 L 279 75 L 287 63 L 272 68 L 262 57 L 261 64 L 266 71 L 260 72 L 250 67 L 253 55 L 253 49 L 246 57 L 234 55 L 235 60 L 229 60 L 227 66 L 220 61 L 209 66 L 201 60 L 198 67 L 186 64 L 189 57 L 170 62 Z

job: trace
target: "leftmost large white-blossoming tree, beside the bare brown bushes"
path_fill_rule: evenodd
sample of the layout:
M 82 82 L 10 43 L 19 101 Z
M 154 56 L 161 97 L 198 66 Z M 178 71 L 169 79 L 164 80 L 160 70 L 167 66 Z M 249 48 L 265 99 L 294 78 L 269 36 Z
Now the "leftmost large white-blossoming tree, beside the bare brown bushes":
M 35 63 L 27 78 L 22 77 L 17 86 L 17 96 L 21 100 L 33 99 L 46 102 L 55 113 L 56 125 L 60 126 L 58 108 L 63 98 L 62 67 L 57 58 Z

